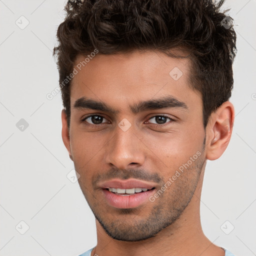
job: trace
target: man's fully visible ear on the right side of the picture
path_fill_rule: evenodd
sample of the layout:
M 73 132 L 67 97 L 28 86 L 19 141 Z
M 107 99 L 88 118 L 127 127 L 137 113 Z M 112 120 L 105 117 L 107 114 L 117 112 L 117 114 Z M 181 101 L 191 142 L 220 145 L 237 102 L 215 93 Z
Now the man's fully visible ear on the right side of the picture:
M 234 107 L 229 101 L 223 102 L 209 118 L 206 127 L 206 158 L 215 160 L 225 151 L 233 129 Z

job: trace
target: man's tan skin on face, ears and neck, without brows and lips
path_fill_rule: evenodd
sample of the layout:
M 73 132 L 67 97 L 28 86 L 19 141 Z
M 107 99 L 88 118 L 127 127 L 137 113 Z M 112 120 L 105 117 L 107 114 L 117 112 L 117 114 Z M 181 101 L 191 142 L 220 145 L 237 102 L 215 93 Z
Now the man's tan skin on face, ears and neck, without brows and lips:
M 74 66 L 83 59 L 78 55 Z M 224 250 L 203 234 L 199 209 L 206 160 L 219 158 L 226 149 L 234 108 L 224 102 L 204 129 L 201 94 L 188 86 L 191 65 L 188 58 L 154 51 L 97 54 L 73 77 L 70 127 L 62 110 L 62 139 L 96 218 L 97 245 L 91 255 L 224 256 Z M 178 80 L 169 75 L 174 67 L 183 73 Z M 129 107 L 166 95 L 184 102 L 187 109 L 133 113 Z M 119 112 L 74 108 L 83 96 Z M 93 127 L 92 118 L 84 119 L 91 114 L 104 117 L 100 126 Z M 162 114 L 174 121 L 163 118 L 159 123 L 155 116 Z M 131 124 L 126 131 L 118 126 L 123 118 Z M 153 202 L 118 209 L 106 203 L 98 187 L 98 181 L 134 177 L 161 189 L 198 151 L 200 155 Z

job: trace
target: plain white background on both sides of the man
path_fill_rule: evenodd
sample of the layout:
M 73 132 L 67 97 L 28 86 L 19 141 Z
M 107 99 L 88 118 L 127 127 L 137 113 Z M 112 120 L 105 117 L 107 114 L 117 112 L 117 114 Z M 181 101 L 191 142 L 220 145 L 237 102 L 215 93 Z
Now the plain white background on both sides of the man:
M 64 0 L 0 0 L 0 256 L 77 256 L 96 244 L 94 216 L 61 139 L 60 93 L 52 57 Z M 201 222 L 208 238 L 240 256 L 256 255 L 255 0 L 229 0 L 237 57 L 231 141 L 208 161 Z M 29 24 L 20 29 L 23 15 Z M 25 24 L 23 18 L 22 24 Z M 254 95 L 254 99 L 253 99 Z M 29 126 L 20 131 L 24 118 Z M 15 226 L 29 226 L 20 234 Z M 234 229 L 225 234 L 220 226 Z M 22 224 L 22 223 L 21 223 Z M 18 225 L 20 227 L 20 224 Z M 25 228 L 25 225 L 22 225 Z M 20 227 L 19 230 L 22 229 Z

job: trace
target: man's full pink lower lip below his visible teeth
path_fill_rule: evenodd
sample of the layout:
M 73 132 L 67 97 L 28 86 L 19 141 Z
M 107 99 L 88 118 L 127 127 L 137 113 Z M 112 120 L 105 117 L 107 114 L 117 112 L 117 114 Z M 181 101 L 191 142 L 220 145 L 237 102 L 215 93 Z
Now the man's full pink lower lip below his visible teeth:
M 118 195 L 114 194 L 107 189 L 102 189 L 106 202 L 115 208 L 127 209 L 135 208 L 147 201 L 149 196 L 154 192 L 154 189 L 145 192 L 135 193 L 131 195 Z

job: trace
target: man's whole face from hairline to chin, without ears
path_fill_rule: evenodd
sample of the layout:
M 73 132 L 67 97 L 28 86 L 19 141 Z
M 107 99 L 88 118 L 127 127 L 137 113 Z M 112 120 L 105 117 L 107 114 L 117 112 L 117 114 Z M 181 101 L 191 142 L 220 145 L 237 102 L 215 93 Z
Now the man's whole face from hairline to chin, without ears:
M 73 77 L 66 146 L 112 238 L 156 235 L 180 217 L 198 185 L 205 131 L 190 64 L 153 51 L 97 54 Z

